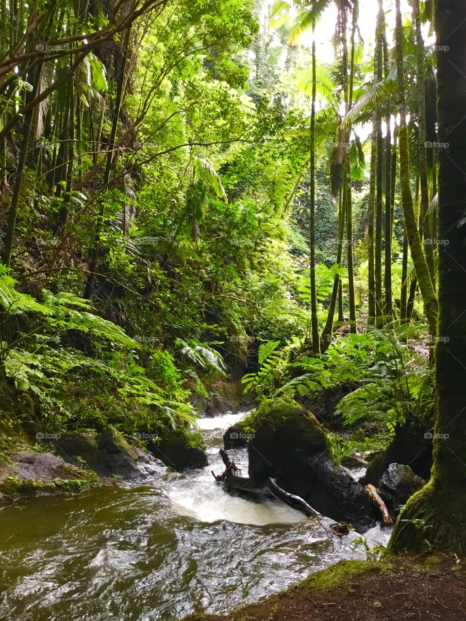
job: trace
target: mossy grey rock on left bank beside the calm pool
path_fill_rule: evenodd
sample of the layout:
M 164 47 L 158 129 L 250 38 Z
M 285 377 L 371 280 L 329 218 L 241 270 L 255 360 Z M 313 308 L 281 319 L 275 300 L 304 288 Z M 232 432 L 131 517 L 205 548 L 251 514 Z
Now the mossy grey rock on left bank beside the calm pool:
M 55 446 L 65 461 L 74 465 L 84 461 L 99 476 L 137 481 L 158 472 L 155 460 L 131 446 L 111 425 L 101 433 L 93 429 L 66 433 Z

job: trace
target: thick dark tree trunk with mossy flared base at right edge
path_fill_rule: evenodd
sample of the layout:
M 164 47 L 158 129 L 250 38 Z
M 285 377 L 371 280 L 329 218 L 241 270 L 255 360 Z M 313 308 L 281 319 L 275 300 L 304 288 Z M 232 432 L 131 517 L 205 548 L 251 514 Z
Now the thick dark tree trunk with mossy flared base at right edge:
M 397 0 L 399 2 L 399 0 Z M 429 546 L 466 554 L 466 2 L 437 0 L 439 142 L 439 338 L 431 480 L 401 512 L 394 551 Z

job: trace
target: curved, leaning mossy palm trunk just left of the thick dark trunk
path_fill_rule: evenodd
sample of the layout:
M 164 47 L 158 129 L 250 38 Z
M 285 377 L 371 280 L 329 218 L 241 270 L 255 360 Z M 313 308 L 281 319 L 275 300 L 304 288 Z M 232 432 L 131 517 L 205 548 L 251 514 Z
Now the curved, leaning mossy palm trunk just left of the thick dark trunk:
M 436 334 L 437 328 L 437 297 L 432 286 L 431 274 L 427 267 L 421 238 L 419 237 L 418 222 L 414 212 L 413 194 L 411 193 L 411 178 L 409 168 L 408 126 L 406 125 L 406 97 L 404 93 L 404 63 L 403 63 L 403 22 L 401 21 L 400 0 L 396 3 L 396 63 L 398 66 L 398 105 L 400 107 L 400 128 L 398 142 L 400 148 L 400 184 L 401 201 L 403 202 L 404 225 L 408 237 L 409 249 L 414 262 L 414 269 L 418 277 L 419 289 L 423 297 L 427 322 L 431 335 Z

